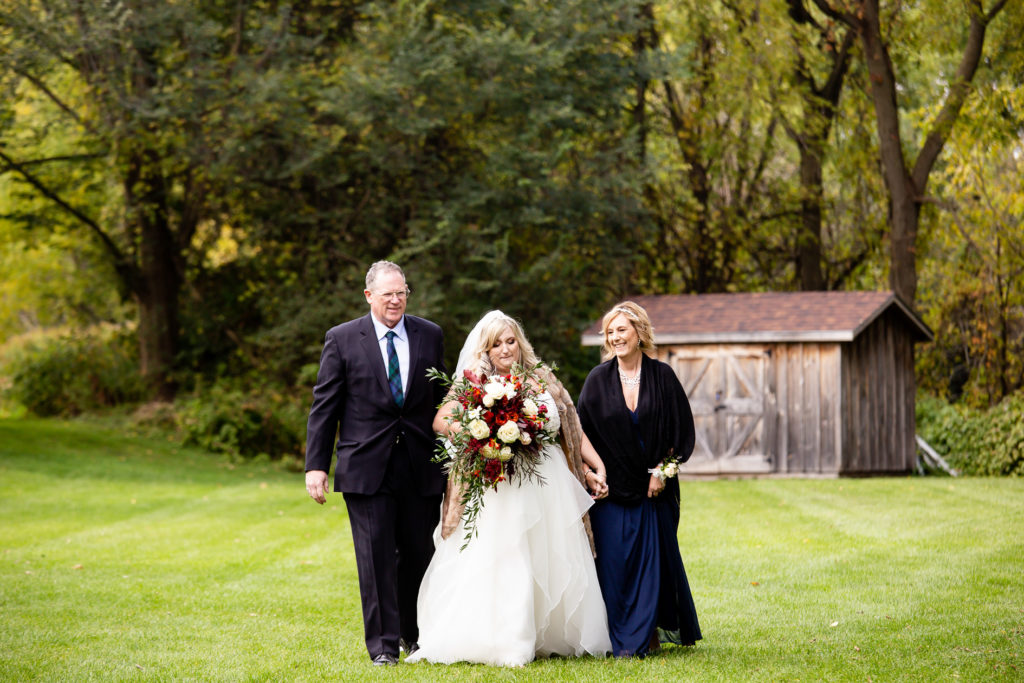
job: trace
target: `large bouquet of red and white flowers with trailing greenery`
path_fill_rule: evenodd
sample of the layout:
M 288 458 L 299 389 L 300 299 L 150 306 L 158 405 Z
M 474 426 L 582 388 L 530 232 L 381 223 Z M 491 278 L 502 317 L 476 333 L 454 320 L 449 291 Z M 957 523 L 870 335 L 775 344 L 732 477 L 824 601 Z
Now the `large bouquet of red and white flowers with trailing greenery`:
M 555 442 L 546 430 L 548 408 L 538 399 L 544 384 L 537 370 L 527 373 L 516 365 L 508 375 L 489 377 L 466 370 L 460 378 L 430 371 L 431 378 L 451 387 L 445 402 L 455 401 L 449 418 L 455 428 L 438 443 L 434 462 L 444 463 L 447 475 L 463 482 L 463 548 L 476 535 L 484 492 L 497 490 L 503 481 L 540 478 L 541 450 Z

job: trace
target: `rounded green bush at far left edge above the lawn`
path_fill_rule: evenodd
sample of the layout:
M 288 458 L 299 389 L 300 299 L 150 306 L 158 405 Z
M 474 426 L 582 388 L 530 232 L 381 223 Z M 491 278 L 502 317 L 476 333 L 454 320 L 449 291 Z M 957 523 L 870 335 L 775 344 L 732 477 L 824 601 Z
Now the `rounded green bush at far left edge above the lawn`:
M 27 335 L 0 353 L 4 396 L 36 415 L 76 415 L 141 399 L 138 345 L 127 327 Z

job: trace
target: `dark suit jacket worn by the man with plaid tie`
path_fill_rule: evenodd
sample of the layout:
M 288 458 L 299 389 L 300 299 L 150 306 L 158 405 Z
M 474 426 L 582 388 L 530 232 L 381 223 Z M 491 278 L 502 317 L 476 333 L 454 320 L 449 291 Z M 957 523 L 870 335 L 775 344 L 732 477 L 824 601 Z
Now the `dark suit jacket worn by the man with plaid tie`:
M 371 495 L 380 488 L 396 438 L 406 440 L 413 475 L 424 496 L 444 489 L 441 467 L 430 461 L 431 427 L 444 388 L 427 379 L 429 368 L 444 370 L 441 329 L 406 315 L 409 386 L 399 408 L 391 396 L 370 314 L 328 330 L 306 426 L 306 471 L 331 468 L 337 433 L 334 490 Z

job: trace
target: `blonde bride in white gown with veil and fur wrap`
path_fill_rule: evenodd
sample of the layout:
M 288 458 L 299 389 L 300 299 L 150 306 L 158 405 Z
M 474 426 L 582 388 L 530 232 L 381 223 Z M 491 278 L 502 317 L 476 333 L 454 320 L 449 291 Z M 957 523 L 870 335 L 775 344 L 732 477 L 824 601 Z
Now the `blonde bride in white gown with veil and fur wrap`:
M 531 371 L 539 360 L 519 324 L 493 310 L 469 333 L 455 377 L 467 369 L 507 374 L 516 362 Z M 593 501 L 584 487 L 607 496 L 604 464 L 584 464 L 572 400 L 550 372 L 542 378 L 548 429 L 560 430 L 561 447 L 544 447 L 541 481 L 502 482 L 484 494 L 477 533 L 461 551 L 462 488 L 449 480 L 417 602 L 420 648 L 408 663 L 516 667 L 536 656 L 603 656 L 611 649 L 586 516 Z M 434 418 L 434 431 L 447 435 L 451 416 L 450 402 Z

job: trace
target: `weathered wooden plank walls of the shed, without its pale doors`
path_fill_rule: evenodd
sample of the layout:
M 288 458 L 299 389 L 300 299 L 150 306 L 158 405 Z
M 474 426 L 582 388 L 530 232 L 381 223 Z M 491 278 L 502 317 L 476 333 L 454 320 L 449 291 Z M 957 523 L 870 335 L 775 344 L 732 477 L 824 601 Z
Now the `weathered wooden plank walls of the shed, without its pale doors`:
M 764 345 L 754 346 L 758 352 L 765 350 Z M 895 308 L 880 315 L 852 342 L 776 343 L 768 350 L 766 470 L 836 476 L 913 468 L 913 337 Z M 659 355 L 675 367 L 690 356 L 738 357 L 751 351 L 752 347 L 742 344 L 694 345 L 671 351 L 663 348 Z M 713 403 L 711 396 L 701 393 L 707 389 L 698 389 L 691 401 Z M 739 465 L 740 459 L 736 460 L 730 467 Z M 719 471 L 719 465 L 708 463 L 701 471 Z M 740 467 L 735 471 L 757 470 Z

